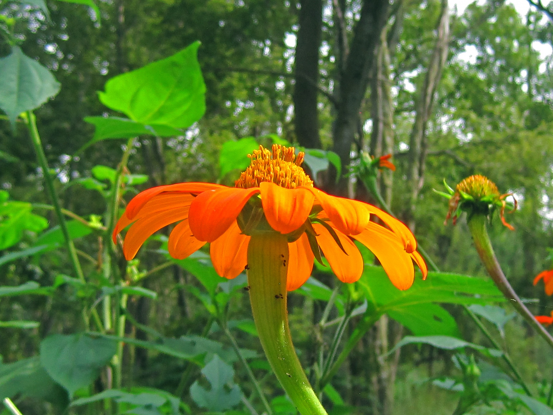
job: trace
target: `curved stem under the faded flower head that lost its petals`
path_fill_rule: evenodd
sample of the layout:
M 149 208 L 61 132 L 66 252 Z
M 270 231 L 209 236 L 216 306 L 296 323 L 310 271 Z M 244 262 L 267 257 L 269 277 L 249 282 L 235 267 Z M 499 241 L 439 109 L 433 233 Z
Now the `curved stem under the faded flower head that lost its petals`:
M 513 287 L 505 277 L 499 262 L 495 257 L 493 251 L 492 242 L 489 240 L 488 232 L 486 230 L 486 216 L 482 214 L 473 214 L 468 220 L 468 227 L 471 230 L 472 240 L 474 246 L 478 251 L 478 255 L 486 267 L 489 275 L 492 277 L 493 282 L 503 293 L 504 297 L 509 300 L 509 303 L 513 304 L 513 307 L 517 312 L 533 327 L 542 338 L 553 347 L 553 337 L 545 330 L 538 320 L 534 318 L 534 315 L 530 313 L 530 310 L 526 308 L 523 302 L 521 302 L 517 293 L 515 293 Z

